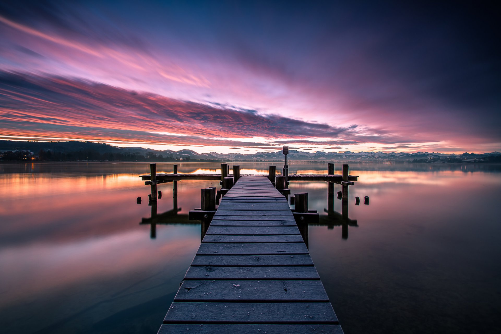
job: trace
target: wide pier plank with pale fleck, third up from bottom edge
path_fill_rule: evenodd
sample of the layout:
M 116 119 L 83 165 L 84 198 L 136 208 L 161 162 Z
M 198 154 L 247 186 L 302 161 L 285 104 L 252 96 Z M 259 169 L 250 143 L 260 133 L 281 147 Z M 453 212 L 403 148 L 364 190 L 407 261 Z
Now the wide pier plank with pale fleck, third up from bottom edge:
M 320 280 L 184 280 L 174 301 L 327 302 Z

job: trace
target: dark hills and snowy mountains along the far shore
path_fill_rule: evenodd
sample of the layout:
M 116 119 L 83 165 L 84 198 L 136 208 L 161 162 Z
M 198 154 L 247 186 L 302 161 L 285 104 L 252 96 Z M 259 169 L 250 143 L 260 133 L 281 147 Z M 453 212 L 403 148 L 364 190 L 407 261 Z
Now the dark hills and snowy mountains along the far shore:
M 33 157 L 44 158 L 44 152 L 49 152 L 51 159 L 56 156 L 62 160 L 113 160 L 113 161 L 283 161 L 282 151 L 258 152 L 254 154 L 241 153 L 197 153 L 183 149 L 179 151 L 157 151 L 142 147 L 117 147 L 108 144 L 67 141 L 67 142 L 20 142 L 0 140 L 0 152 L 30 151 Z M 90 156 L 94 159 L 89 158 Z M 41 156 L 42 155 L 42 156 Z M 500 152 L 483 154 L 463 153 L 444 154 L 435 152 L 301 152 L 289 150 L 289 161 L 338 161 L 367 163 L 501 163 Z M 47 157 L 45 156 L 46 160 Z M 130 159 L 130 160 L 125 160 Z

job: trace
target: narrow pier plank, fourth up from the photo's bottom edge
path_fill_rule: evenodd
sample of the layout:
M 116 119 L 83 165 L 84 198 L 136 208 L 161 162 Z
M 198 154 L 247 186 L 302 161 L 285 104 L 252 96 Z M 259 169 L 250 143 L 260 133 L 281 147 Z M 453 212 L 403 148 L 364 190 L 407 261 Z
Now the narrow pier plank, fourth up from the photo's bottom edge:
M 184 279 L 320 279 L 315 267 L 221 267 L 190 266 Z

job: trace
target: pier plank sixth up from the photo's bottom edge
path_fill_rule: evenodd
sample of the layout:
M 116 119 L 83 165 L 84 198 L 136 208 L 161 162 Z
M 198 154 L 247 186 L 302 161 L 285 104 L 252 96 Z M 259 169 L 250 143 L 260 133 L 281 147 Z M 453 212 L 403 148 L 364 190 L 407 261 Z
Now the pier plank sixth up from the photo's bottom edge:
M 198 248 L 197 255 L 235 254 L 235 255 L 259 255 L 259 254 L 308 254 L 304 243 L 202 243 Z

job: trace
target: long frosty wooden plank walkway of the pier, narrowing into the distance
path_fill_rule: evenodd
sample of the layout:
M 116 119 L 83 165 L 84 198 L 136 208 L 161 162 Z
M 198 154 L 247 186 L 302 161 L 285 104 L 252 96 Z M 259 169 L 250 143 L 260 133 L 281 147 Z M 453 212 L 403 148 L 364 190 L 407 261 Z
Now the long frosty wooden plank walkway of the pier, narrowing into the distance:
M 287 199 L 242 176 L 221 200 L 159 333 L 343 333 Z

